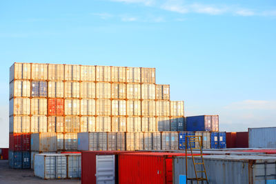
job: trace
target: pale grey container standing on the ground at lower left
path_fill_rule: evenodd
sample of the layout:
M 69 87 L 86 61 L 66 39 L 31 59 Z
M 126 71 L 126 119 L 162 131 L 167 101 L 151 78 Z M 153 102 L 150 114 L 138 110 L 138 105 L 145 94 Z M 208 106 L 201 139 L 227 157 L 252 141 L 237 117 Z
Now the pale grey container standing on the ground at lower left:
M 65 179 L 67 177 L 65 154 L 35 154 L 34 176 L 43 179 Z

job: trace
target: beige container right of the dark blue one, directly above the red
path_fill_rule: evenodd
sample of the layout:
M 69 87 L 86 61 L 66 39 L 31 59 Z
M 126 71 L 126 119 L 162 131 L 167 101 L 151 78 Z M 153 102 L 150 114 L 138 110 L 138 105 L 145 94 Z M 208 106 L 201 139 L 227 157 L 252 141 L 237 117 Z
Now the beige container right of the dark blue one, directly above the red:
M 63 98 L 64 84 L 61 81 L 48 82 L 48 97 L 49 98 Z

